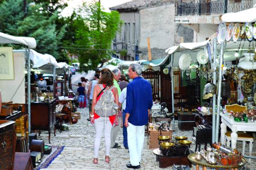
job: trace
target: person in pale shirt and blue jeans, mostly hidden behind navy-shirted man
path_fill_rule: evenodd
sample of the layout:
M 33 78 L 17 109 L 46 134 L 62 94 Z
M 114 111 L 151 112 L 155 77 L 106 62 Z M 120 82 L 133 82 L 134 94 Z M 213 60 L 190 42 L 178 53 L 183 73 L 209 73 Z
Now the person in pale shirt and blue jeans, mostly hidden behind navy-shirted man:
M 122 112 L 122 121 L 123 124 L 125 124 L 125 106 L 126 106 L 126 90 L 127 88 L 124 88 L 119 96 L 119 112 Z M 125 126 L 123 128 L 123 144 L 125 149 L 128 149 L 128 142 L 127 142 L 127 128 Z

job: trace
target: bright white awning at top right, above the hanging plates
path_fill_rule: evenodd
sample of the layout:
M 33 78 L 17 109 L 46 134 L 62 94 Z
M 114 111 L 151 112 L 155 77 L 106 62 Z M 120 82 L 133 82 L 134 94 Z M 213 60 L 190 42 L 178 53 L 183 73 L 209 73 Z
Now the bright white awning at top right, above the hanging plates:
M 254 23 L 256 22 L 256 6 L 236 13 L 223 14 L 221 20 L 225 23 Z

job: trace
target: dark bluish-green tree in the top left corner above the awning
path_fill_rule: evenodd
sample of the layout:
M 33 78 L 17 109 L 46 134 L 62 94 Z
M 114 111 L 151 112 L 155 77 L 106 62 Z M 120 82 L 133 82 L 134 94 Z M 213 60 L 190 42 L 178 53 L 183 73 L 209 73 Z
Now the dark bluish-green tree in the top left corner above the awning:
M 58 12 L 48 16 L 41 4 L 34 7 L 28 6 L 28 14 L 25 17 L 23 0 L 6 0 L 0 4 L 0 31 L 15 36 L 34 37 L 37 41 L 36 51 L 51 54 L 56 59 L 60 57 L 56 46 L 61 44 L 64 37 L 65 26 L 56 29 Z

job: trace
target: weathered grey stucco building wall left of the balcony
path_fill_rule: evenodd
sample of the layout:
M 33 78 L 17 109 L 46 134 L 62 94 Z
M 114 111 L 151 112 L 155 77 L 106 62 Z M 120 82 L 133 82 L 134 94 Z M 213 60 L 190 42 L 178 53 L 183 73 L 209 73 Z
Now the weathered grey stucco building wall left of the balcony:
M 148 59 L 147 37 L 150 37 L 152 59 L 166 57 L 165 50 L 180 43 L 181 37 L 185 37 L 188 42 L 193 41 L 192 29 L 180 26 L 180 30 L 177 30 L 174 16 L 174 4 L 140 10 L 140 59 Z M 190 30 L 189 34 L 187 30 Z

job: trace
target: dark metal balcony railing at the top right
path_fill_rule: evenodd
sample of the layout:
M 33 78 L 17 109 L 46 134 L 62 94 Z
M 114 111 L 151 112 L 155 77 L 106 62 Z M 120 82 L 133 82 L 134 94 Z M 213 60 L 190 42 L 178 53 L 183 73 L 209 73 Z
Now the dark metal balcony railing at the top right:
M 175 16 L 224 14 L 243 11 L 252 6 L 252 0 L 201 0 L 175 3 Z

